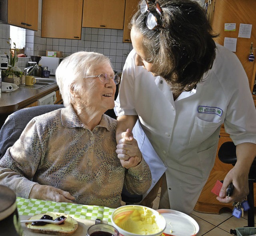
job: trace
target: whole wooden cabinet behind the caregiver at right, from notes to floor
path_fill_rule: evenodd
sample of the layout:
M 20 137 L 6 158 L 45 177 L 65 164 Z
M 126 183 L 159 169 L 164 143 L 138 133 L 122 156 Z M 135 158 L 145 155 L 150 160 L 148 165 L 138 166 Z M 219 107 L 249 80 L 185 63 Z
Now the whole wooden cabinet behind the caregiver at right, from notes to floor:
M 255 0 L 214 0 L 211 2 L 211 6 L 208 6 L 208 16 L 210 16 L 212 29 L 214 33 L 220 34 L 218 38 L 215 38 L 215 41 L 223 46 L 225 37 L 237 38 L 236 52 L 234 53 L 246 71 L 251 91 L 253 89 L 256 74 L 256 63 L 248 60 L 251 42 L 253 42 L 254 47 L 256 47 L 256 31 L 254 29 L 254 26 L 256 25 L 256 18 L 254 17 L 254 9 L 256 9 Z M 236 31 L 224 31 L 225 23 L 236 23 Z M 251 38 L 238 38 L 240 24 L 252 24 Z M 255 103 L 255 95 L 253 96 Z M 222 128 L 220 131 L 218 150 L 222 143 L 226 141 L 232 140 L 229 135 L 225 133 L 224 128 Z M 208 181 L 206 182 L 206 185 L 204 186 L 194 208 L 196 211 L 218 214 L 220 209 L 223 207 L 229 207 L 232 209 L 231 204 L 220 203 L 216 200 L 216 195 L 211 192 L 216 181 L 223 180 L 228 171 L 232 168 L 232 165 L 222 163 L 218 159 L 217 155 Z M 254 184 L 254 192 L 256 192 L 256 184 Z M 256 206 L 256 194 L 254 194 L 254 205 Z

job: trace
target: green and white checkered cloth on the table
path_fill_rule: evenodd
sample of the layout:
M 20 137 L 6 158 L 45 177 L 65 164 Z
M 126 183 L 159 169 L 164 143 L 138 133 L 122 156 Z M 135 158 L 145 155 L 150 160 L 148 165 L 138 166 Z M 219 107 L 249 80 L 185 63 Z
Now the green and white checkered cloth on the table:
M 51 202 L 38 199 L 16 198 L 20 215 L 33 216 L 44 212 L 60 212 L 73 215 L 75 218 L 95 220 L 97 218 L 111 223 L 113 208 L 104 206 L 79 205 L 68 202 Z

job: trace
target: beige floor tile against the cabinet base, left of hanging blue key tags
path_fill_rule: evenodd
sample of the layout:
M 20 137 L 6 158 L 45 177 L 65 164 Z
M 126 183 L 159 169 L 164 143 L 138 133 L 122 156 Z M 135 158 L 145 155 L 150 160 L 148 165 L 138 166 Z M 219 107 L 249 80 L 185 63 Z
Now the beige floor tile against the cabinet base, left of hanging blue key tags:
M 200 213 L 196 212 L 195 210 L 193 210 L 191 214 L 198 216 L 199 218 L 206 220 L 207 222 L 215 226 L 218 226 L 232 216 L 232 213 L 227 211 L 226 209 L 221 209 L 220 214 Z

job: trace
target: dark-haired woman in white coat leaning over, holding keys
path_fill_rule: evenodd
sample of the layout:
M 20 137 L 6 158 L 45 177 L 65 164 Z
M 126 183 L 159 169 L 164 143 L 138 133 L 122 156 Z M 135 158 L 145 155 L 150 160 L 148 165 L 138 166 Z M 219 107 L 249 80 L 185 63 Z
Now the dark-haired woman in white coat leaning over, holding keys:
M 138 141 L 152 173 L 141 204 L 152 206 L 162 178 L 159 208 L 189 214 L 214 165 L 223 123 L 238 161 L 217 199 L 243 200 L 256 156 L 256 110 L 240 61 L 214 43 L 196 2 L 142 0 L 131 25 L 134 50 L 126 59 L 115 106 L 116 152 L 124 167 L 136 165 L 123 139 L 123 132 L 133 129 L 130 137 Z M 227 200 L 230 182 L 234 193 Z

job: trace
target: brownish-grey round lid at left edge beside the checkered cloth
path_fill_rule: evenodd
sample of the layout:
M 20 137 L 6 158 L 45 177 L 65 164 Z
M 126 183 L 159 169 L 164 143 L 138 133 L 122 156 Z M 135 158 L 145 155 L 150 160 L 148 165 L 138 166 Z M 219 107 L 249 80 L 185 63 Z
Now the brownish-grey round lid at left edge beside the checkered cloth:
M 16 194 L 7 186 L 0 185 L 0 220 L 10 216 L 16 209 Z

